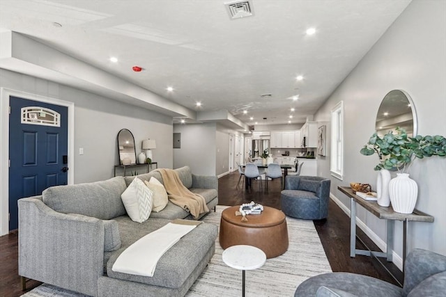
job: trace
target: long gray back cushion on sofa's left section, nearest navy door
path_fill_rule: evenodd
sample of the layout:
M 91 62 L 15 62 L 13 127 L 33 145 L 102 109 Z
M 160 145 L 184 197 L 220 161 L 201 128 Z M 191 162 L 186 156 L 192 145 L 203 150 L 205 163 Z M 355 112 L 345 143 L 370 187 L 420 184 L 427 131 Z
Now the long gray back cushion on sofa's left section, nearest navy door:
M 43 202 L 63 214 L 83 214 L 109 220 L 125 214 L 121 194 L 125 191 L 123 177 L 101 182 L 51 186 L 42 193 Z

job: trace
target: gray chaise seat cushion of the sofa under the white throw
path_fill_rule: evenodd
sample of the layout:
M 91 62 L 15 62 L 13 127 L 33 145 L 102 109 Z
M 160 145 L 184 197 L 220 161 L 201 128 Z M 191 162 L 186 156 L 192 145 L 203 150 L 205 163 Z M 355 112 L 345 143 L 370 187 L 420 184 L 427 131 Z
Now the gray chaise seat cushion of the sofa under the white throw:
M 138 224 L 128 217 L 116 218 L 121 233 L 122 247 L 109 257 L 107 262 L 107 275 L 109 278 L 141 282 L 160 287 L 178 288 L 194 271 L 206 252 L 215 244 L 217 226 L 202 223 L 194 230 L 183 236 L 160 258 L 153 277 L 116 273 L 112 266 L 121 252 L 142 236 L 166 225 L 170 220 L 149 218 L 146 222 Z

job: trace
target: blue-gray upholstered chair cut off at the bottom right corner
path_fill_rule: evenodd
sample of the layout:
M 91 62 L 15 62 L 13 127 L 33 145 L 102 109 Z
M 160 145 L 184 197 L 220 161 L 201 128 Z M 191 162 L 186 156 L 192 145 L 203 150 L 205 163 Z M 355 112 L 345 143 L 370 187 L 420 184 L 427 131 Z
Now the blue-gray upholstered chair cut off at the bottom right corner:
M 446 292 L 446 256 L 415 249 L 406 258 L 403 287 L 355 273 L 316 275 L 295 290 L 295 297 L 440 297 Z

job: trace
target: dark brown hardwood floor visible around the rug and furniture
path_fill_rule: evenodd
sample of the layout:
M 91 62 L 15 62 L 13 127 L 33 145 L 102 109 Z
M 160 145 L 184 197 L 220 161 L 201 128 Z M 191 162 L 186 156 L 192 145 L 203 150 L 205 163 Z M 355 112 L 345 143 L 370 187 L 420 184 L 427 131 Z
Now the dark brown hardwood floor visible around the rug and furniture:
M 243 179 L 237 186 L 240 175 L 233 172 L 219 179 L 219 204 L 238 205 L 245 202 L 259 202 L 265 206 L 280 209 L 280 179 L 268 182 L 268 191 L 259 190 L 258 182 L 254 182 L 252 188 L 245 190 Z M 263 184 L 265 188 L 265 184 Z M 401 285 L 403 275 L 392 263 L 373 257 L 350 255 L 350 218 L 342 211 L 337 204 L 330 200 L 328 218 L 325 220 L 315 220 L 314 225 L 319 234 L 325 253 L 332 271 L 346 271 L 360 273 L 379 278 L 392 284 Z M 379 250 L 378 247 L 357 228 L 357 248 L 364 248 L 364 244 L 371 250 Z M 20 289 L 20 277 L 18 275 L 18 234 L 11 234 L 0 237 L 0 296 L 16 297 L 24 294 Z M 362 243 L 362 241 L 364 243 Z M 392 278 L 388 271 L 396 275 Z M 40 282 L 28 280 L 26 287 L 32 289 Z

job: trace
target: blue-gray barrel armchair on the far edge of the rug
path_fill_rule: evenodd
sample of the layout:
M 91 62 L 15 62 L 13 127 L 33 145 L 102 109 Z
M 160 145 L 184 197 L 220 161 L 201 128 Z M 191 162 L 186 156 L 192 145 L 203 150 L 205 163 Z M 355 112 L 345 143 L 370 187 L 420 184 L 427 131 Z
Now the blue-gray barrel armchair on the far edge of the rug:
M 285 189 L 280 195 L 286 216 L 306 220 L 327 218 L 330 198 L 330 179 L 287 175 Z

